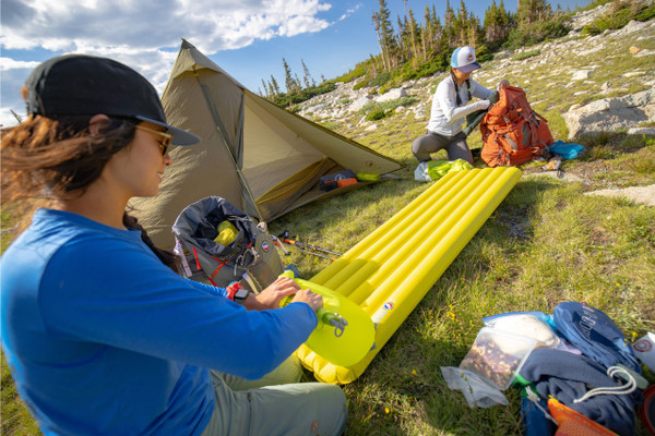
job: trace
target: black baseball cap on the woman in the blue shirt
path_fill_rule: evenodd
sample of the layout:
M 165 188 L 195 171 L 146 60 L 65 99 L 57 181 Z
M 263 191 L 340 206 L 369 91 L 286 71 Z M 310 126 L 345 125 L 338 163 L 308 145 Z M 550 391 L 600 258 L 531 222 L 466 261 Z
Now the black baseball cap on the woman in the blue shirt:
M 97 114 L 134 118 L 166 128 L 175 145 L 200 137 L 166 123 L 154 86 L 131 68 L 108 58 L 64 55 L 34 69 L 27 81 L 27 113 L 43 117 Z

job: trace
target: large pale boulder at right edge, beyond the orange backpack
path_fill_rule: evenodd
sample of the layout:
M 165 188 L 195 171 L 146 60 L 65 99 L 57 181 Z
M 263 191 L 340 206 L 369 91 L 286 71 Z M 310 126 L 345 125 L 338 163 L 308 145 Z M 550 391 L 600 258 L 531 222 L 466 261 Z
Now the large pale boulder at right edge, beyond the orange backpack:
M 655 121 L 655 89 L 572 107 L 563 117 L 569 138 L 636 128 L 641 123 Z

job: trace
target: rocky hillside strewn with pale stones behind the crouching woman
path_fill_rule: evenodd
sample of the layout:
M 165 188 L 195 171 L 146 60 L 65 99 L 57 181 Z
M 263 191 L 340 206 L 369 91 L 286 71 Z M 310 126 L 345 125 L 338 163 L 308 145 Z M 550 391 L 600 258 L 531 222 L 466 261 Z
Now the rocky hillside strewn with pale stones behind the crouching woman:
M 495 87 L 500 80 L 512 76 L 512 81 L 517 82 L 516 86 L 524 88 L 533 107 L 546 101 L 552 105 L 547 109 L 557 107 L 560 112 L 565 110 L 567 106 L 562 105 L 563 101 L 556 102 L 558 89 L 570 89 L 567 95 L 572 94 L 576 101 L 588 102 L 597 98 L 598 100 L 584 106 L 573 106 L 562 113 L 569 129 L 569 137 L 617 130 L 627 131 L 629 134 L 651 134 L 652 123 L 655 121 L 655 49 L 652 45 L 655 20 L 633 21 L 621 29 L 584 36 L 581 32 L 583 27 L 607 14 L 609 8 L 610 3 L 607 3 L 579 12 L 569 23 L 573 31 L 567 37 L 513 52 L 504 50 L 496 53 L 488 65 L 476 72 L 476 81 L 487 87 Z M 521 53 L 528 56 L 520 56 Z M 628 61 L 624 70 L 618 75 L 616 70 L 608 75 L 604 59 L 611 60 L 619 56 L 624 58 L 626 53 L 630 53 L 634 64 Z M 586 59 L 593 60 L 585 61 Z M 412 105 L 395 109 L 395 113 L 397 117 L 407 117 L 408 122 L 413 122 L 414 118 L 417 122 L 427 123 L 436 85 L 443 76 L 444 72 L 437 72 L 430 77 L 405 82 L 401 87 L 384 94 L 377 87 L 356 89 L 357 81 L 337 83 L 332 93 L 300 104 L 299 113 L 313 121 L 344 122 L 362 129 L 374 129 L 371 123 L 380 124 L 384 121 L 366 121 L 360 112 L 367 105 L 414 97 Z M 531 89 L 533 86 L 534 89 Z M 633 86 L 651 90 L 627 95 Z M 603 98 L 617 96 L 621 97 Z M 569 105 L 573 102 L 575 101 Z

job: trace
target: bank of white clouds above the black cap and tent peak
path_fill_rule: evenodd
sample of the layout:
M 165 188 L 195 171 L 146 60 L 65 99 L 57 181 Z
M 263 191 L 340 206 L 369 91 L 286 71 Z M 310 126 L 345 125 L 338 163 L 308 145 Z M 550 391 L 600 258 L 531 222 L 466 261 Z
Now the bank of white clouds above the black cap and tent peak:
M 181 38 L 209 56 L 320 32 L 331 25 L 320 17 L 331 8 L 327 0 L 2 0 L 0 45 L 38 49 L 39 61 L 44 50 L 110 57 L 162 93 Z M 38 63 L 0 58 L 2 123 L 14 119 L 8 108 L 24 106 L 17 89 Z

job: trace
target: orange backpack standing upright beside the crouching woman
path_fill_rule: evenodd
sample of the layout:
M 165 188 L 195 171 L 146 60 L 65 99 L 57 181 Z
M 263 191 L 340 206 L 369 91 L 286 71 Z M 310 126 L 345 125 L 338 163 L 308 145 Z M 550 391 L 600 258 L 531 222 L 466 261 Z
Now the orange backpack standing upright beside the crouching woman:
M 544 117 L 529 107 L 525 92 L 502 85 L 498 102 L 480 123 L 481 157 L 489 167 L 517 166 L 544 156 L 552 135 Z

